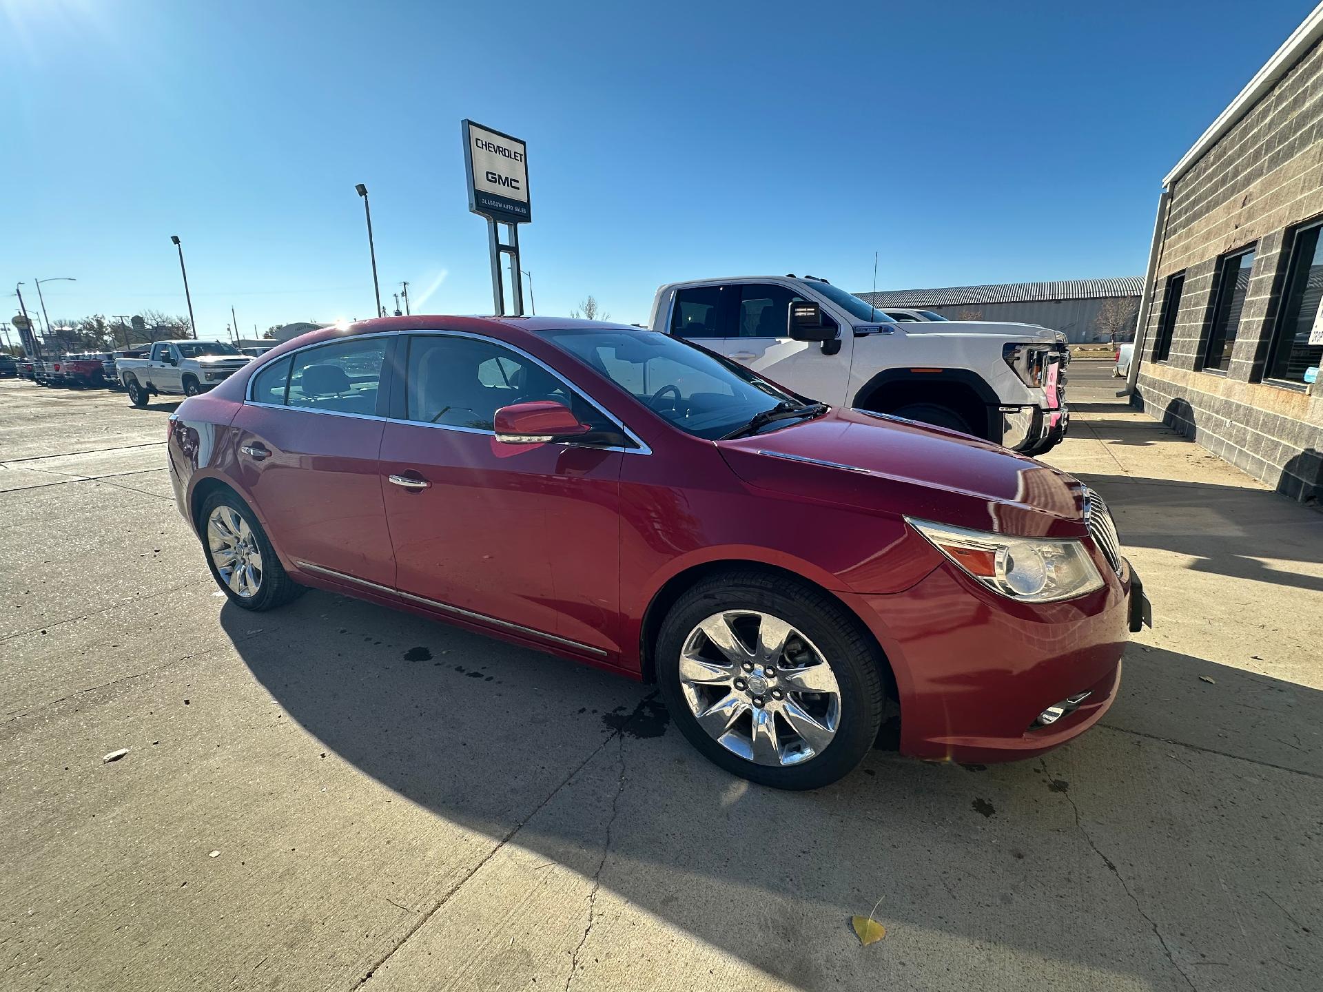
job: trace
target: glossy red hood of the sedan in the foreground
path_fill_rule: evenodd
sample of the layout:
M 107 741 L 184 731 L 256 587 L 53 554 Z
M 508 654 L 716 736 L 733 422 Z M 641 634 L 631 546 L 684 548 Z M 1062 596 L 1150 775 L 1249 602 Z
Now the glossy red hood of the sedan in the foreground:
M 789 496 L 1021 536 L 1084 533 L 1084 487 L 999 444 L 840 409 L 717 442 L 749 485 Z

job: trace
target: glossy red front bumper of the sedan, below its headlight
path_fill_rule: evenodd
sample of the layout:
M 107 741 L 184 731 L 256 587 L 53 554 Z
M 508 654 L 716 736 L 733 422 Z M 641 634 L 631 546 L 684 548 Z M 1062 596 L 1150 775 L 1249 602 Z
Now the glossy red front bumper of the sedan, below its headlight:
M 1130 593 L 1126 570 L 1078 599 L 1019 603 L 942 565 L 905 593 L 843 598 L 892 664 L 901 753 L 1003 762 L 1058 747 L 1107 712 L 1139 602 Z M 1045 709 L 1081 693 L 1078 706 L 1035 727 Z

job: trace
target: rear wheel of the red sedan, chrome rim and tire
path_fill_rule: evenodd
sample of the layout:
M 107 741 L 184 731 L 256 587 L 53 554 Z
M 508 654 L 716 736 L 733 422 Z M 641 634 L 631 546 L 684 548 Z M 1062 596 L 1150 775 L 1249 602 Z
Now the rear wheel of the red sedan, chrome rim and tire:
M 198 520 L 206 566 L 232 603 L 263 612 L 304 591 L 284 571 L 253 511 L 233 492 L 212 493 Z

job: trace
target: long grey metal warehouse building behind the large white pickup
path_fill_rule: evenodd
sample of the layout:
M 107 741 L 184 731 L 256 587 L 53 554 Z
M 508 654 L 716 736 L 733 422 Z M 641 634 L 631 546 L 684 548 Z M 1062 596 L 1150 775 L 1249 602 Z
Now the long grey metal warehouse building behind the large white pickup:
M 949 320 L 1012 320 L 1065 333 L 1073 344 L 1131 340 L 1144 280 L 1068 279 L 1054 283 L 949 286 L 856 294 L 875 307 L 930 310 Z

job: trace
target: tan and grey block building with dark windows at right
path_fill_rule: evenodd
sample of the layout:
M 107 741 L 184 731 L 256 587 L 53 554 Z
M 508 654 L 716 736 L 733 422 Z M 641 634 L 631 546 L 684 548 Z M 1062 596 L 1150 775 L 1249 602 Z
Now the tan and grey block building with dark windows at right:
M 1163 181 L 1136 402 L 1298 500 L 1323 499 L 1323 4 Z

